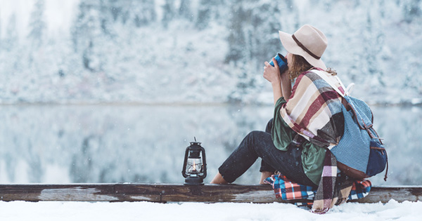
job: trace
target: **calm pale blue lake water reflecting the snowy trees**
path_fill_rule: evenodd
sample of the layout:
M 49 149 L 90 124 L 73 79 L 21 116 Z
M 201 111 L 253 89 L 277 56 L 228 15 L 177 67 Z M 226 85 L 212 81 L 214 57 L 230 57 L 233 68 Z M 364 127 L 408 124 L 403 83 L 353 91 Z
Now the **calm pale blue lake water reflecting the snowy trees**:
M 422 184 L 422 108 L 372 107 L 385 138 L 389 178 L 373 185 Z M 207 156 L 205 182 L 270 106 L 0 106 L 0 183 L 184 182 L 184 151 L 196 136 Z M 255 163 L 236 183 L 257 183 Z

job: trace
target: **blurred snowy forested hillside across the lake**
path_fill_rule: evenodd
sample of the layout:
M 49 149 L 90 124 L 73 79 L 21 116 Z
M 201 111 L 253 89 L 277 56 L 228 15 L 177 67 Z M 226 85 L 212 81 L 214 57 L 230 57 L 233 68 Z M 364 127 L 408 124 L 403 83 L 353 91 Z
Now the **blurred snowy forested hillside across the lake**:
M 263 62 L 304 24 L 353 95 L 422 102 L 419 0 L 27 2 L 1 0 L 1 103 L 271 103 Z

